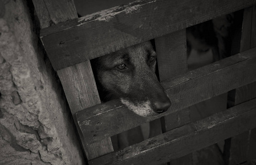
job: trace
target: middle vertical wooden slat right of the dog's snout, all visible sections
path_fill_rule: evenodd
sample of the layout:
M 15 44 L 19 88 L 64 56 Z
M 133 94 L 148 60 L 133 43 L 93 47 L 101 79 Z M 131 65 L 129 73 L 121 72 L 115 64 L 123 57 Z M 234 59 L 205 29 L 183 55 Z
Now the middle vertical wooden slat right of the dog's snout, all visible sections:
M 155 38 L 160 81 L 187 72 L 186 42 L 186 29 Z M 162 125 L 164 132 L 181 127 L 184 124 L 190 123 L 189 109 L 185 108 L 178 113 L 165 116 L 161 120 L 162 123 L 164 123 L 164 125 Z M 192 164 L 192 153 L 177 160 L 171 160 L 170 163 Z

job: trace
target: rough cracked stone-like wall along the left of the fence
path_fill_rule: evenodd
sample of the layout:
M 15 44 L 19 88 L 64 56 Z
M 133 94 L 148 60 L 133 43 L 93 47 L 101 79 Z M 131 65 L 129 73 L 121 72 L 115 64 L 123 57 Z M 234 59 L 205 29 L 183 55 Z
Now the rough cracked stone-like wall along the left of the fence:
M 29 3 L 0 0 L 0 164 L 84 164 Z

